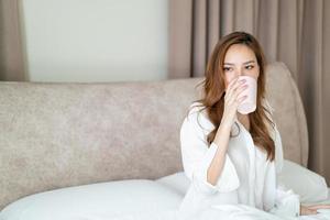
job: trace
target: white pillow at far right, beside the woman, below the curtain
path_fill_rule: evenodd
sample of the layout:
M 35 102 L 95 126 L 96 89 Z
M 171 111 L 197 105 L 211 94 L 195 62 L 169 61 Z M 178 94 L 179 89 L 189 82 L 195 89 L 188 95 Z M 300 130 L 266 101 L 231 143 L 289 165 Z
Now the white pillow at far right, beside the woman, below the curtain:
M 300 196 L 301 202 L 315 202 L 328 198 L 324 177 L 288 160 L 284 160 L 282 173 L 277 178 L 278 185 L 285 189 L 293 189 Z

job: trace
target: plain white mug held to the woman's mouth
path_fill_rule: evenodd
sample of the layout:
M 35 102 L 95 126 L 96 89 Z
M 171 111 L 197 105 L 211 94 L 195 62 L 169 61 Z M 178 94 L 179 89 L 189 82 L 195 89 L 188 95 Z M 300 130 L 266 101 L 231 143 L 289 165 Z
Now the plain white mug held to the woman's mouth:
M 245 79 L 248 88 L 243 90 L 240 97 L 248 96 L 238 107 L 241 114 L 248 114 L 256 109 L 256 79 L 251 76 L 240 76 L 239 79 Z

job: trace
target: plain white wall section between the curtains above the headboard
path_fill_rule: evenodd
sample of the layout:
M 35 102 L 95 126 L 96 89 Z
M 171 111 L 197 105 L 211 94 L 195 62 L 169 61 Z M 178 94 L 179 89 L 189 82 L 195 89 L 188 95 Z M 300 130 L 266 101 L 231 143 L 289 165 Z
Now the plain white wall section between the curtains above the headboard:
M 167 0 L 21 0 L 31 81 L 167 78 Z

